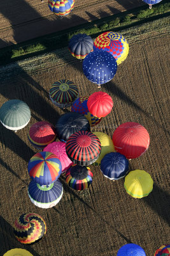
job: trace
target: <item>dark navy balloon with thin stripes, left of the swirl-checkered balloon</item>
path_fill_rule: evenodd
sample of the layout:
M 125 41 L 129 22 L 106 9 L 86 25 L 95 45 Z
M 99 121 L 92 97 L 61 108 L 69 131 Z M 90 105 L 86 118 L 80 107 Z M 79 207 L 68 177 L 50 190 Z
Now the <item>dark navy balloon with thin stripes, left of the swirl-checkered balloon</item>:
M 77 59 L 83 60 L 87 54 L 93 51 L 93 40 L 86 34 L 74 35 L 69 40 L 69 51 Z

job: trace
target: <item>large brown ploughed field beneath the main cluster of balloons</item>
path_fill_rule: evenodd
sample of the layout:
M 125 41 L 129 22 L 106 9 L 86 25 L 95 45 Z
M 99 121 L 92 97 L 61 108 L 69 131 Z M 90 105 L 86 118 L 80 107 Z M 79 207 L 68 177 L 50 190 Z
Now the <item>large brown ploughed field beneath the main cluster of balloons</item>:
M 29 127 L 39 120 L 55 125 L 63 112 L 48 97 L 53 82 L 74 81 L 80 95 L 97 91 L 96 84 L 83 75 L 82 63 L 66 49 L 20 61 L 0 70 L 1 105 L 8 99 L 20 99 L 31 108 L 31 122 L 17 133 L 1 125 L 0 150 L 0 255 L 11 248 L 25 248 L 34 256 L 116 256 L 126 243 L 139 244 L 147 256 L 169 243 L 169 36 L 160 21 L 122 31 L 130 51 L 118 66 L 116 76 L 101 90 L 111 95 L 111 113 L 92 131 L 112 136 L 118 125 L 132 121 L 142 124 L 150 134 L 150 147 L 138 159 L 130 161 L 130 170 L 145 170 L 154 181 L 153 191 L 134 199 L 124 189 L 124 179 L 106 179 L 98 167 L 91 166 L 94 179 L 89 189 L 74 191 L 60 177 L 64 195 L 52 209 L 40 209 L 27 195 L 31 181 L 27 172 L 35 150 L 27 139 Z M 161 28 L 160 28 L 161 27 Z M 143 31 L 143 32 L 142 32 Z M 13 235 L 13 223 L 24 212 L 36 212 L 47 225 L 46 236 L 30 246 L 20 244 Z

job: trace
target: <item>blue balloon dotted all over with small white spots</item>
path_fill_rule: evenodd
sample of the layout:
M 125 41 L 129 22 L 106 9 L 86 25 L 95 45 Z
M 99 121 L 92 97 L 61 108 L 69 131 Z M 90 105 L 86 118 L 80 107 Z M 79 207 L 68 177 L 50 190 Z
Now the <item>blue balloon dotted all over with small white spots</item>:
M 92 82 L 101 87 L 115 76 L 117 61 L 106 51 L 90 52 L 83 60 L 83 73 Z

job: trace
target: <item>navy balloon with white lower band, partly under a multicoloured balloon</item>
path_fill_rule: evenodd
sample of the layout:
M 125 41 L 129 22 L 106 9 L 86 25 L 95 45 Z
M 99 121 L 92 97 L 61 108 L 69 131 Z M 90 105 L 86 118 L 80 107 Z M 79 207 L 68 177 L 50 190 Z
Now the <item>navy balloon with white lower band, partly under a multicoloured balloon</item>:
M 28 188 L 28 195 L 31 202 L 40 208 L 51 208 L 59 203 L 62 198 L 63 188 L 60 180 L 52 184 L 40 186 L 31 180 Z

